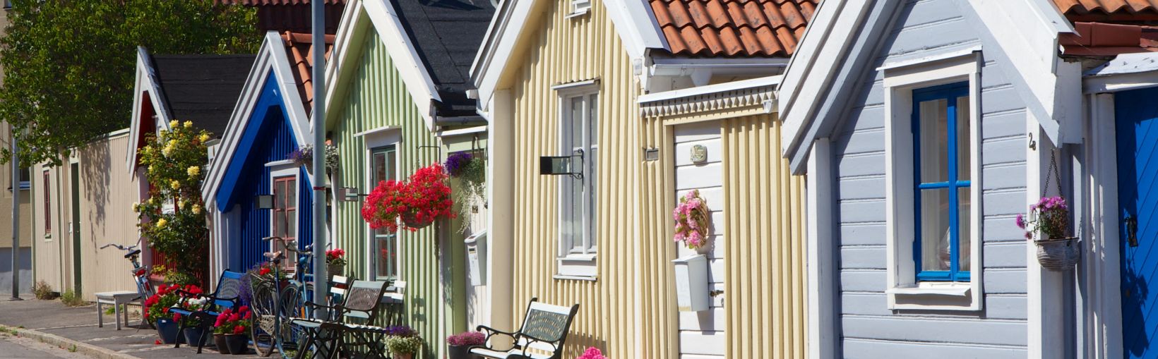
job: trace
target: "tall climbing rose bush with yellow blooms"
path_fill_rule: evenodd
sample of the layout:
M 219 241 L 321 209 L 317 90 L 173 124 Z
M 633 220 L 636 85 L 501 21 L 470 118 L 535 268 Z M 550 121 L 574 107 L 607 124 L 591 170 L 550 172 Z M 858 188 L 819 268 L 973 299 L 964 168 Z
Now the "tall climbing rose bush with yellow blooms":
M 138 227 L 149 246 L 173 261 L 166 279 L 190 284 L 205 270 L 208 227 L 201 200 L 201 169 L 208 163 L 205 141 L 208 132 L 193 129 L 191 122 L 169 124 L 159 138 L 147 137 L 140 161 L 151 184 L 149 199 L 133 204 Z M 196 283 L 196 279 L 192 279 Z

